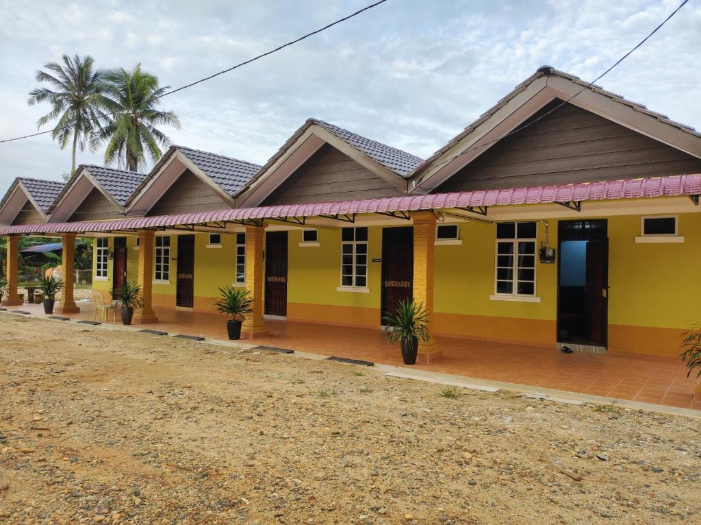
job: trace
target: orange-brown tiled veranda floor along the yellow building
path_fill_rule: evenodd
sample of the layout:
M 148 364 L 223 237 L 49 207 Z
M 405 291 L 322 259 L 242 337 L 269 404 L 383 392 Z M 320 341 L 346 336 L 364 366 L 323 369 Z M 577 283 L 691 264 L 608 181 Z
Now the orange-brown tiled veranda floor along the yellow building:
M 80 302 L 79 305 L 81 313 L 66 317 L 92 320 L 92 303 Z M 8 310 L 26 310 L 44 317 L 41 305 L 8 307 Z M 226 339 L 223 316 L 170 308 L 158 308 L 156 314 L 158 323 L 144 325 L 144 328 L 172 335 L 184 333 Z M 108 322 L 111 323 L 111 319 Z M 270 335 L 243 342 L 390 365 L 402 364 L 399 347 L 388 346 L 379 330 L 292 321 L 266 320 L 266 324 Z M 696 381 L 686 378 L 686 368 L 676 357 L 622 352 L 563 354 L 540 347 L 444 337 L 438 338 L 438 342 L 443 359 L 435 364 L 416 365 L 416 368 L 701 410 L 701 402 L 693 400 Z

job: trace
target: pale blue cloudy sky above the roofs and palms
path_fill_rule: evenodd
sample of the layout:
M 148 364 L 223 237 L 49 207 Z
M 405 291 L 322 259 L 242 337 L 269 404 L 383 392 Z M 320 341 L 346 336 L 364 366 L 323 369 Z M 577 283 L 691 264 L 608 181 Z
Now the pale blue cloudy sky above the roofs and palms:
M 308 117 L 428 157 L 540 65 L 594 79 L 681 0 L 389 0 L 320 36 L 163 99 L 176 144 L 263 164 Z M 137 62 L 182 86 L 370 0 L 0 0 L 0 138 L 36 131 L 37 68 L 63 53 Z M 701 2 L 599 84 L 701 128 Z M 102 164 L 102 151 L 79 162 Z M 50 135 L 0 144 L 0 194 L 16 176 L 60 180 Z M 150 166 L 144 166 L 147 171 Z

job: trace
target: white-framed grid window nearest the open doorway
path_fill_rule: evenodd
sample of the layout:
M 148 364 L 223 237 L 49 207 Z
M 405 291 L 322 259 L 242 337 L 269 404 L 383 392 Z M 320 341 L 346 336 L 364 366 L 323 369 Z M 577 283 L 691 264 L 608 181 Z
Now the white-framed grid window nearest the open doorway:
M 536 294 L 536 222 L 496 225 L 496 293 Z

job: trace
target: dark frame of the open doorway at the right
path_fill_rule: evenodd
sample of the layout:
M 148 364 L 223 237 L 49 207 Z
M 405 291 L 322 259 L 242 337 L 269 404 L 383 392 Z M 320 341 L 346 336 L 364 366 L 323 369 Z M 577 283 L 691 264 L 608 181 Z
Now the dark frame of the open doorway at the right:
M 580 223 L 580 227 L 573 228 L 570 231 L 566 231 L 566 227 L 569 225 L 577 226 L 576 223 Z M 604 348 L 608 347 L 608 220 L 607 219 L 581 219 L 581 220 L 559 220 L 557 228 L 557 311 L 556 315 L 556 326 L 555 326 L 555 340 L 557 343 L 572 344 L 572 345 L 583 345 L 583 346 L 593 346 Z M 588 225 L 588 227 L 587 227 Z M 602 257 L 605 258 L 605 263 L 602 268 L 601 275 L 601 291 L 595 291 L 601 293 L 601 304 L 603 309 L 601 312 L 601 345 L 592 343 L 578 343 L 560 340 L 560 317 L 561 317 L 561 270 L 562 270 L 562 243 L 565 241 L 589 241 L 592 243 L 598 242 L 602 243 L 604 246 Z M 588 253 L 588 251 L 587 251 Z M 589 267 L 589 261 L 587 260 L 587 270 Z M 586 287 L 585 287 L 586 288 Z M 590 293 L 594 291 L 586 291 L 585 295 L 590 297 Z M 594 296 L 594 295 L 591 295 Z

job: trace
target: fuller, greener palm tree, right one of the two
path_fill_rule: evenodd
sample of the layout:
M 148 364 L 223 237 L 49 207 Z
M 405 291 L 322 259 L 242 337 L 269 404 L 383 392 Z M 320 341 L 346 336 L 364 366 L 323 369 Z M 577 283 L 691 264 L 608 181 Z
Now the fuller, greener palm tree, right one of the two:
M 117 161 L 129 171 L 137 168 L 147 156 L 152 161 L 161 158 L 159 145 L 168 147 L 170 140 L 155 126 L 166 124 L 180 128 L 180 120 L 172 111 L 161 111 L 160 97 L 170 86 L 158 87 L 158 78 L 143 72 L 141 64 L 127 71 L 123 67 L 105 73 L 107 98 L 104 109 L 111 115 L 109 123 L 100 133 L 100 140 L 107 140 L 104 152 L 105 164 Z

